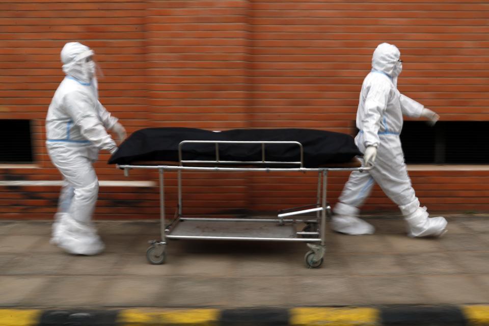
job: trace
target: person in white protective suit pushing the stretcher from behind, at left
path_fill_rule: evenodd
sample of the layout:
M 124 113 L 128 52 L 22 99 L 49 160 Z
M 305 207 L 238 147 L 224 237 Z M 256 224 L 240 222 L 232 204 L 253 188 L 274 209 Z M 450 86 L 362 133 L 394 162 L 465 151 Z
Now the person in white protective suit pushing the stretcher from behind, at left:
M 113 154 L 117 145 L 106 130 L 122 142 L 124 127 L 98 100 L 94 52 L 78 42 L 61 51 L 66 74 L 55 92 L 46 117 L 46 147 L 53 165 L 63 175 L 51 243 L 71 254 L 96 255 L 104 244 L 92 224 L 98 179 L 92 164 L 98 151 Z

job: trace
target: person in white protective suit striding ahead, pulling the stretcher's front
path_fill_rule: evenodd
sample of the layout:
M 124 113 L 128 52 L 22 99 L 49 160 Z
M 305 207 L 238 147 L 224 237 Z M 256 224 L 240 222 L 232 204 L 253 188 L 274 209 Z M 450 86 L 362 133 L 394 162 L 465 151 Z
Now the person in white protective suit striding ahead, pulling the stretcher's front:
M 374 227 L 358 218 L 361 206 L 377 183 L 396 203 L 411 237 L 441 236 L 447 221 L 439 216 L 428 218 L 426 207 L 420 207 L 404 162 L 399 134 L 402 116 L 424 117 L 432 124 L 439 116 L 397 90 L 397 77 L 402 70 L 400 52 L 394 45 L 382 43 L 373 52 L 372 70 L 365 77 L 357 111 L 355 142 L 364 153 L 363 166 L 374 164 L 368 172 L 350 174 L 336 204 L 333 230 L 360 235 L 374 233 Z

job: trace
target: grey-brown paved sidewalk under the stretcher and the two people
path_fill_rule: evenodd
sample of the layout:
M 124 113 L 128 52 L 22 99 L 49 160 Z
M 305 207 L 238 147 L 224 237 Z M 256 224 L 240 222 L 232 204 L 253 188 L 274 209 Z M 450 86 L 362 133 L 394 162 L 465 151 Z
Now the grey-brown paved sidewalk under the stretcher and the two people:
M 95 257 L 49 244 L 50 222 L 0 222 L 0 308 L 263 308 L 489 303 L 489 215 L 449 215 L 442 239 L 411 239 L 399 216 L 368 236 L 328 233 L 321 268 L 304 243 L 170 241 L 150 265 L 159 221 L 97 222 Z

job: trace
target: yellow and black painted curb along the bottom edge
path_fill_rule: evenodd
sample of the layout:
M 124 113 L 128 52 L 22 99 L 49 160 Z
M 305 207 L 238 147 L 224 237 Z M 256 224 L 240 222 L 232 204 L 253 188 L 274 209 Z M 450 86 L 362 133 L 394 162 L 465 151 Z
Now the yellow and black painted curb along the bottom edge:
M 0 326 L 489 326 L 489 305 L 250 309 L 0 309 Z

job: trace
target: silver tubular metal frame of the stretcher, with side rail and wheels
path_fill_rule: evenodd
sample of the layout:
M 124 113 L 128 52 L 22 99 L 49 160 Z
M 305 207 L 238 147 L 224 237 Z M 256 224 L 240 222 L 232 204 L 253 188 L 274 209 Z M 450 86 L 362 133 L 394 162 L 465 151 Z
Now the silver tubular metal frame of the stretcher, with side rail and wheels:
M 215 160 L 184 160 L 182 147 L 186 144 L 214 144 Z M 220 160 L 220 144 L 240 145 L 256 144 L 261 145 L 261 161 L 237 161 Z M 300 161 L 267 161 L 265 157 L 266 145 L 295 145 L 300 151 Z M 372 167 L 356 168 L 304 168 L 304 148 L 299 142 L 292 141 L 183 141 L 178 146 L 179 165 L 117 165 L 124 170 L 124 175 L 129 175 L 131 169 L 151 169 L 159 172 L 159 203 L 160 203 L 160 232 L 161 240 L 151 240 L 150 247 L 146 252 L 148 261 L 152 264 L 162 264 L 166 260 L 166 239 L 206 239 L 206 240 L 255 240 L 255 241 L 295 241 L 306 242 L 311 249 L 305 255 L 306 264 L 309 267 L 319 267 L 322 264 L 325 252 L 325 234 L 327 215 L 331 214 L 331 207 L 327 203 L 327 177 L 329 171 L 368 171 Z M 190 166 L 184 166 L 190 165 Z M 205 165 L 205 166 L 202 166 Z M 211 165 L 211 166 L 209 166 Z M 226 165 L 226 166 L 222 166 Z M 229 167 L 235 165 L 236 167 Z M 247 167 L 243 167 L 247 166 Z M 248 167 L 251 165 L 252 167 Z M 260 165 L 277 167 L 257 167 Z M 283 165 L 292 167 L 280 167 Z M 165 215 L 165 171 L 177 171 L 178 180 L 178 209 L 175 211 L 174 220 L 167 225 Z M 182 171 L 206 171 L 206 172 L 317 172 L 317 197 L 316 204 L 302 207 L 294 207 L 281 210 L 277 219 L 223 219 L 223 218 L 185 218 L 183 216 L 182 199 Z M 322 182 L 321 182 L 322 181 Z M 321 186 L 322 183 L 322 186 Z M 301 209 L 314 206 L 314 208 Z M 300 209 L 300 210 L 294 210 Z M 292 211 L 291 211 L 292 210 Z M 290 212 L 284 212 L 290 211 Z M 300 214 L 316 213 L 316 219 L 290 219 L 289 216 Z M 289 219 L 286 219 L 289 218 Z M 306 227 L 302 232 L 295 230 L 297 223 L 305 223 Z M 222 230 L 216 232 L 215 229 L 205 231 L 205 224 L 214 226 L 221 225 Z M 184 225 L 184 226 L 183 226 Z M 251 225 L 261 225 L 262 236 L 250 235 Z M 266 225 L 266 227 L 265 227 Z M 271 226 L 271 228 L 270 228 Z M 291 226 L 286 230 L 286 226 Z M 248 228 L 248 229 L 247 229 Z M 263 230 L 264 228 L 264 230 Z M 285 229 L 284 229 L 285 228 Z M 182 230 L 180 230 L 182 229 Z M 285 231 L 284 231 L 285 230 Z M 251 232 L 256 230 L 251 230 Z M 207 234 L 205 234 L 207 232 Z M 230 234 L 234 233 L 234 234 Z

